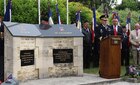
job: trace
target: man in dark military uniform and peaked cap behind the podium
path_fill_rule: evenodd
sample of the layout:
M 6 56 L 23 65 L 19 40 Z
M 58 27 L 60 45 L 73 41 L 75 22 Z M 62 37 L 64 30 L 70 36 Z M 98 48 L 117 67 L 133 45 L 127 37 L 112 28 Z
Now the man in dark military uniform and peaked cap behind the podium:
M 95 28 L 95 42 L 94 42 L 94 67 L 99 66 L 99 50 L 100 50 L 100 40 L 108 37 L 110 35 L 110 26 L 108 25 L 108 16 L 101 15 L 100 21 L 101 24 Z

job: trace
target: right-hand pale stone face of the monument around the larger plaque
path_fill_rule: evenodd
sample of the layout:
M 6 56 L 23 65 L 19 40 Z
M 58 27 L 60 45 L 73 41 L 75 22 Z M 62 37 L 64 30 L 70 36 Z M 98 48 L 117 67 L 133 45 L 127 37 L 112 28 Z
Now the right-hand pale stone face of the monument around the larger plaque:
M 41 78 L 83 74 L 82 38 L 40 38 L 37 39 L 37 45 L 40 44 L 42 45 L 39 48 L 39 56 L 42 56 L 42 69 L 39 71 L 42 74 Z M 53 49 L 73 49 L 73 63 L 54 64 Z

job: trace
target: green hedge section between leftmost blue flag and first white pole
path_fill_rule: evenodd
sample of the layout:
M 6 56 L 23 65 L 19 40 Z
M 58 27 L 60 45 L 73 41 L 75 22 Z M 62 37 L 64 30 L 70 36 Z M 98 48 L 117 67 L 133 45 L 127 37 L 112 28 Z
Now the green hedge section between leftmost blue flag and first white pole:
M 12 21 L 23 23 L 37 23 L 37 2 L 32 0 L 12 1 Z

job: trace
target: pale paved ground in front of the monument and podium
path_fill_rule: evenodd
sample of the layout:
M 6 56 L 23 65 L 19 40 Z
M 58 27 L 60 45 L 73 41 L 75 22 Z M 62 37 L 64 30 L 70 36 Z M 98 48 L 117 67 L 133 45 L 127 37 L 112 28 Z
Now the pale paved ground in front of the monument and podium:
M 120 79 L 104 79 L 94 74 L 84 74 L 82 77 L 47 78 L 29 80 L 20 85 L 140 85 L 140 83 L 121 82 Z

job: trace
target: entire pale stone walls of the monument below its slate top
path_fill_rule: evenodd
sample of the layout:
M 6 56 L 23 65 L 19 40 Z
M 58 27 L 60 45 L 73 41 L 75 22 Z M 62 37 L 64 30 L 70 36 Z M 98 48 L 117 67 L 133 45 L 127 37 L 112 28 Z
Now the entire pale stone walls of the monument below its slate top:
M 6 30 L 7 31 L 7 30 Z M 83 75 L 82 37 L 12 37 L 5 32 L 5 77 L 12 73 L 20 81 Z M 73 49 L 73 63 L 53 63 L 53 49 Z M 21 50 L 34 50 L 34 64 L 21 66 Z

